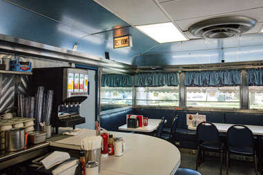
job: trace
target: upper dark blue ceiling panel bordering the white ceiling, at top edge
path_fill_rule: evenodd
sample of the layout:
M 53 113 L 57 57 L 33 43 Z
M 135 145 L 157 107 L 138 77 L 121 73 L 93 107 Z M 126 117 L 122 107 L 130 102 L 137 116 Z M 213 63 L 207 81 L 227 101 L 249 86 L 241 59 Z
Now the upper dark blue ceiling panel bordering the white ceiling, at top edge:
M 101 6 L 92 0 L 8 1 L 55 19 L 87 34 L 128 25 L 128 23 L 108 12 L 108 10 L 101 8 Z

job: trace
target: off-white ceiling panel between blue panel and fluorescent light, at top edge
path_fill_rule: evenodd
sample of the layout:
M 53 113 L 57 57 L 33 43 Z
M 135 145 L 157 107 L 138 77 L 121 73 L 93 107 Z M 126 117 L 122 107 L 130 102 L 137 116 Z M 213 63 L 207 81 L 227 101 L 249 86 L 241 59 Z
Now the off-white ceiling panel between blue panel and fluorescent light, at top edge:
M 153 0 L 94 0 L 132 25 L 169 21 Z

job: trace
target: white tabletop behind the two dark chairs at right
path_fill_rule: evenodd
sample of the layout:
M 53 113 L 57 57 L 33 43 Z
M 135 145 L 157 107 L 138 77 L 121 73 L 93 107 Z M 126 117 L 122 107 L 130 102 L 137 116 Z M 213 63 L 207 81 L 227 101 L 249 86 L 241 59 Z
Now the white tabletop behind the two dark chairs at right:
M 227 132 L 228 128 L 235 124 L 228 124 L 228 123 L 213 123 L 219 132 Z M 254 135 L 261 135 L 263 136 L 263 126 L 257 125 L 245 125 L 249 127 L 249 129 L 253 132 Z M 196 127 L 188 127 L 189 130 L 196 130 Z

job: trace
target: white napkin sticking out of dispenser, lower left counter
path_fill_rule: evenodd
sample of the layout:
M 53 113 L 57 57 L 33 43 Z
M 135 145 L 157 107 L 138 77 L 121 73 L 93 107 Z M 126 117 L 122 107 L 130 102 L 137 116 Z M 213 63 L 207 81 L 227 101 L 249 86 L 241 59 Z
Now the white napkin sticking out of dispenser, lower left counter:
M 70 154 L 67 152 L 52 152 L 49 156 L 46 156 L 46 158 L 43 158 L 42 161 L 40 161 L 46 169 L 50 169 L 51 167 L 58 165 L 59 163 L 62 163 L 66 160 L 70 159 Z

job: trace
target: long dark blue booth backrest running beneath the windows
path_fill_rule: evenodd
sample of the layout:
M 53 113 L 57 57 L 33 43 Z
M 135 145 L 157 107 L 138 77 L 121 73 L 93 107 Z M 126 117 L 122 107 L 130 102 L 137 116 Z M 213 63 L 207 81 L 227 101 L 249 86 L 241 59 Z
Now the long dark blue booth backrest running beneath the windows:
M 178 114 L 177 128 L 187 129 L 186 114 L 204 114 L 206 121 L 212 123 L 231 123 L 242 125 L 263 125 L 263 114 L 242 113 L 242 112 L 200 112 L 187 110 L 160 110 L 160 109 L 119 109 L 115 112 L 104 112 L 101 114 L 101 127 L 106 130 L 118 131 L 118 127 L 126 124 L 126 114 L 137 114 L 149 119 L 162 119 L 167 122 L 164 127 L 171 127 L 173 117 Z

